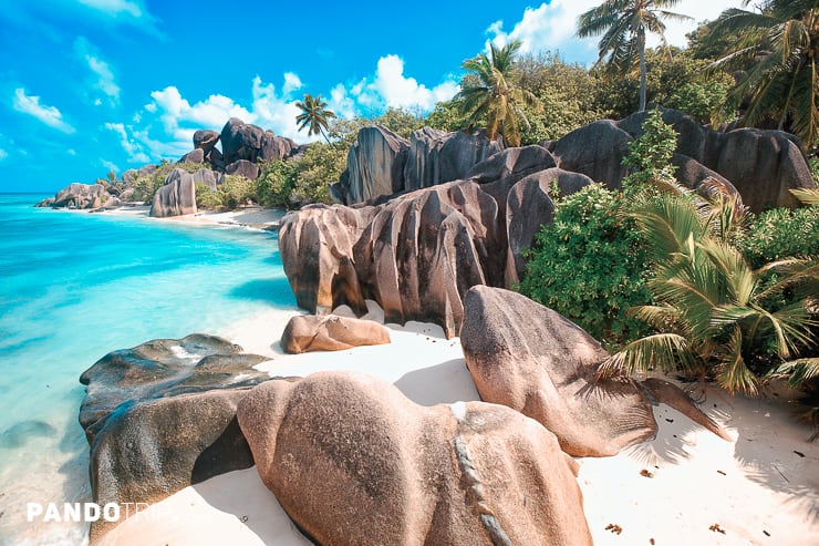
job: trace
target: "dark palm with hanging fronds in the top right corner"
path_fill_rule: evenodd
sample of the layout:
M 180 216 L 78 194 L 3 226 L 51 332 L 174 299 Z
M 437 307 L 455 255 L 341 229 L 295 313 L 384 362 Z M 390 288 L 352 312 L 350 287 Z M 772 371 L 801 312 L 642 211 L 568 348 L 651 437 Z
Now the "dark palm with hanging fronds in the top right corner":
M 748 6 L 744 0 L 743 6 Z M 745 70 L 734 96 L 746 100 L 742 122 L 754 125 L 773 117 L 780 130 L 794 133 L 812 150 L 819 140 L 819 2 L 764 0 L 759 11 L 725 10 L 712 41 L 733 37 L 736 48 L 714 68 Z

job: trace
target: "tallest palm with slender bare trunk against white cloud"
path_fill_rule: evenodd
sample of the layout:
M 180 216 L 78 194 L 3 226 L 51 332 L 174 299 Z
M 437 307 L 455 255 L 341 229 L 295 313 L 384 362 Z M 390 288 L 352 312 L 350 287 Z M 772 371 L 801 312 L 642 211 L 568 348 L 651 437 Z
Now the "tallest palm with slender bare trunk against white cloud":
M 598 64 L 605 61 L 611 74 L 631 72 L 635 58 L 640 59 L 640 111 L 645 110 L 645 34 L 660 34 L 663 47 L 663 19 L 688 21 L 688 16 L 666 11 L 680 0 L 604 0 L 597 8 L 578 18 L 578 38 L 603 34 L 598 43 Z

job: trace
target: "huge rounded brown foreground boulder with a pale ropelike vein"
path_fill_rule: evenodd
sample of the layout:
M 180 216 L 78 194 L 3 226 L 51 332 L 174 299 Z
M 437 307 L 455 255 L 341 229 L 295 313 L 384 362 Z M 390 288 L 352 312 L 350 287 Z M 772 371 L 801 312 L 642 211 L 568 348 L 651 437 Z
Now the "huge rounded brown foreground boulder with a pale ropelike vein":
M 262 482 L 317 544 L 591 544 L 576 463 L 508 408 L 422 406 L 323 372 L 257 387 L 237 416 Z

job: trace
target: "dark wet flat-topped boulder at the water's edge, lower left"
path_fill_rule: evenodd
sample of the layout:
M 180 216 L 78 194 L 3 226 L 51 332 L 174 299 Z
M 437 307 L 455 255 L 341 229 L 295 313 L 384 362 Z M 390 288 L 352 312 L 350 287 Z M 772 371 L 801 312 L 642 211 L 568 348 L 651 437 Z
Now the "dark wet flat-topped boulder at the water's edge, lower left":
M 114 351 L 80 378 L 80 424 L 91 446 L 94 502 L 153 503 L 253 464 L 236 421 L 265 357 L 212 336 L 154 340 Z M 102 532 L 95 522 L 92 535 Z

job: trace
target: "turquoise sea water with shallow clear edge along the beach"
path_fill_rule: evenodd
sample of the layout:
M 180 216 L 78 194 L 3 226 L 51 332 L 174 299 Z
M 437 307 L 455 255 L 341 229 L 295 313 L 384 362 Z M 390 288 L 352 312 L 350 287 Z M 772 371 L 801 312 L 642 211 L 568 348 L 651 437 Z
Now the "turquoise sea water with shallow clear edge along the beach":
M 79 544 L 25 503 L 89 499 L 77 378 L 114 349 L 294 307 L 274 234 L 37 209 L 0 194 L 0 544 Z

